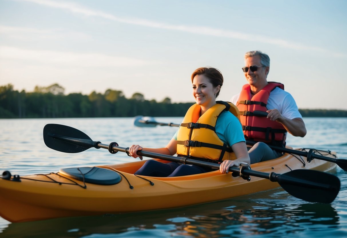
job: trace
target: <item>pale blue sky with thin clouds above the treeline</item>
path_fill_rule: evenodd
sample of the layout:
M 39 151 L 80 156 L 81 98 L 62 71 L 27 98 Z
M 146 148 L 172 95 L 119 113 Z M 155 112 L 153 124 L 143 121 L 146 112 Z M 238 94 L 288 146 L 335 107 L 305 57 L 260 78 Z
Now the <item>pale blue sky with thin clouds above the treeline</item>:
M 347 110 L 345 0 L 0 0 L 0 86 L 194 102 L 191 74 L 218 68 L 229 101 L 244 54 L 270 57 L 300 109 Z

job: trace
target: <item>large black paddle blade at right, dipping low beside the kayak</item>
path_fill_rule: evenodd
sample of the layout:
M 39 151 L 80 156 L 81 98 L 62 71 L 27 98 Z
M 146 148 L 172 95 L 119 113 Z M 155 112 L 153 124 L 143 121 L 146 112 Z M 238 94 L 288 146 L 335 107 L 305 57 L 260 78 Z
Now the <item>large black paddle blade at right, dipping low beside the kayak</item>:
M 277 176 L 277 182 L 289 194 L 308 202 L 331 203 L 340 191 L 338 177 L 315 170 L 292 170 Z

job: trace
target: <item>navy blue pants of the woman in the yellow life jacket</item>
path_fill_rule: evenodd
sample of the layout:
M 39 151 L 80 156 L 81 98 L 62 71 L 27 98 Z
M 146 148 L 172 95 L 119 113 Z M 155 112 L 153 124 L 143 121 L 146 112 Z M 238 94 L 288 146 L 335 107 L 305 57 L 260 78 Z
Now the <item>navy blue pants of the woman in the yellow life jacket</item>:
M 147 160 L 135 175 L 145 175 L 153 177 L 177 177 L 185 175 L 195 175 L 197 173 L 205 173 L 211 170 L 197 166 L 179 164 L 176 162 L 161 163 L 156 160 Z

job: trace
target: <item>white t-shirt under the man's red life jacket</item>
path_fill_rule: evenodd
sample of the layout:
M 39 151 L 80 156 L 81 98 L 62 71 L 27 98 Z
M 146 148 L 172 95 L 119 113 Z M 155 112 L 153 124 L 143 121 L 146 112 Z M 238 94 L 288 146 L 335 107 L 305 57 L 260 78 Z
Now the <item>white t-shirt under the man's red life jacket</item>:
M 232 96 L 230 102 L 236 105 L 239 96 L 239 93 Z M 270 92 L 266 108 L 268 110 L 277 109 L 283 117 L 290 120 L 294 118 L 302 118 L 293 96 L 279 87 L 276 87 Z

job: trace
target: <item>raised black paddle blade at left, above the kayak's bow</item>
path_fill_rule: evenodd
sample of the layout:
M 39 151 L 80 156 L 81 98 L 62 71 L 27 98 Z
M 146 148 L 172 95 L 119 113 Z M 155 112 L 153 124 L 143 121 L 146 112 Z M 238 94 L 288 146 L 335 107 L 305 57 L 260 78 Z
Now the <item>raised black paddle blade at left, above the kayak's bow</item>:
M 91 147 L 99 148 L 97 144 L 100 143 L 92 141 L 80 130 L 59 124 L 45 125 L 43 140 L 49 148 L 66 153 L 78 153 Z

